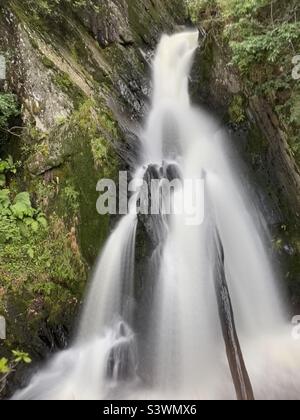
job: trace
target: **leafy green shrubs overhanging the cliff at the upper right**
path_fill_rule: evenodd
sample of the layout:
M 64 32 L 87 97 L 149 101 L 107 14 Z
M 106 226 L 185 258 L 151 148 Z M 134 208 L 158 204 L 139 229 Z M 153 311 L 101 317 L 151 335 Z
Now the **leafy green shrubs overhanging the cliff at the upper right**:
M 187 4 L 194 22 L 201 23 L 222 46 L 228 65 L 240 74 L 245 93 L 264 97 L 276 110 L 300 163 L 300 84 L 292 77 L 293 58 L 300 51 L 299 1 L 187 0 Z

